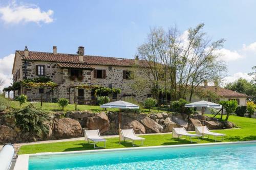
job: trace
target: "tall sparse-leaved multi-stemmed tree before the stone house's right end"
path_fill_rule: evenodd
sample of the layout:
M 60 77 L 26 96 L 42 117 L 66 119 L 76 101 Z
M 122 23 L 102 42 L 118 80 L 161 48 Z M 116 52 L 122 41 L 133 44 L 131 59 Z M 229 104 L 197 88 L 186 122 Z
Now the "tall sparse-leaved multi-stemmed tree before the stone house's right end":
M 225 76 L 226 65 L 219 60 L 221 54 L 218 53 L 224 39 L 211 41 L 202 32 L 203 27 L 202 23 L 188 29 L 185 39 L 176 27 L 168 31 L 155 28 L 138 47 L 137 56 L 145 67 L 144 75 L 158 106 L 160 89 L 164 89 L 165 98 L 169 93 L 172 101 L 186 99 L 187 95 L 191 101 L 205 80 L 216 81 Z

